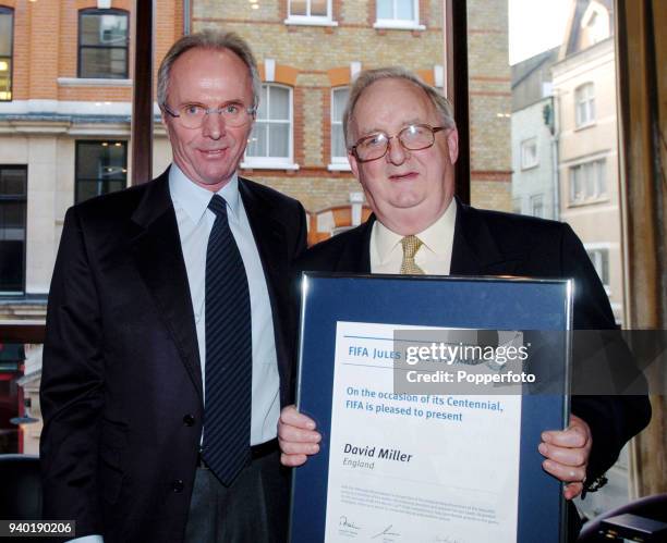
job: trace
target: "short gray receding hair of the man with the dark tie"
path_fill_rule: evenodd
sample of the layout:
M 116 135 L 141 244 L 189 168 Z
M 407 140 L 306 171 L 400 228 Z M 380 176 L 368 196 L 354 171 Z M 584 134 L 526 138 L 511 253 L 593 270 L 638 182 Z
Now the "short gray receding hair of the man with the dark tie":
M 259 78 L 259 72 L 257 71 L 255 55 L 253 54 L 253 51 L 247 42 L 233 32 L 206 28 L 202 32 L 183 36 L 177 40 L 167 52 L 167 55 L 162 59 L 160 69 L 158 71 L 158 104 L 160 108 L 167 103 L 169 94 L 169 73 L 171 72 L 171 66 L 181 54 L 195 48 L 209 49 L 214 51 L 222 51 L 227 49 L 237 54 L 237 57 L 239 57 L 247 66 L 247 71 L 250 72 L 250 76 L 253 82 L 252 106 L 254 108 L 259 106 L 262 79 Z

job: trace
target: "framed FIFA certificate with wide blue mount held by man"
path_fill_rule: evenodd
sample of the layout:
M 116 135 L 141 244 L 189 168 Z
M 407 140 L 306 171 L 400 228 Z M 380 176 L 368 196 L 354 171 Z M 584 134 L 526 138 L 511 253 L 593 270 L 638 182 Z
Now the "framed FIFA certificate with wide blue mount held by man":
M 292 543 L 561 542 L 572 284 L 304 273 Z

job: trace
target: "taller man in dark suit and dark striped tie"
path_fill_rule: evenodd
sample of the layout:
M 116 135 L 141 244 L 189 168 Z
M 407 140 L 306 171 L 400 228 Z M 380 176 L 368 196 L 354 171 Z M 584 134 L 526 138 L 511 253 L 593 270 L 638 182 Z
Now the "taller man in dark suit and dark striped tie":
M 171 168 L 65 217 L 41 375 L 44 515 L 75 520 L 86 542 L 283 541 L 276 424 L 292 395 L 304 211 L 237 174 L 260 89 L 241 38 L 181 38 L 158 82 Z M 209 410 L 220 391 L 233 424 Z

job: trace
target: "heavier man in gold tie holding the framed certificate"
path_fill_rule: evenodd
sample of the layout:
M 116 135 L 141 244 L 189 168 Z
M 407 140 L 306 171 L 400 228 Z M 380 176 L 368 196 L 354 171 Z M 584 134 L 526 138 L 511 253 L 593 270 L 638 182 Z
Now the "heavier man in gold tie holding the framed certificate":
M 482 211 L 453 197 L 457 129 L 447 100 L 401 69 L 362 73 L 343 114 L 349 159 L 374 214 L 311 248 L 298 269 L 573 277 L 574 329 L 614 329 L 605 291 L 562 223 Z M 543 467 L 579 495 L 644 428 L 643 396 L 574 397 L 568 429 L 543 433 Z M 314 422 L 293 406 L 279 424 L 282 461 L 299 466 L 319 447 Z

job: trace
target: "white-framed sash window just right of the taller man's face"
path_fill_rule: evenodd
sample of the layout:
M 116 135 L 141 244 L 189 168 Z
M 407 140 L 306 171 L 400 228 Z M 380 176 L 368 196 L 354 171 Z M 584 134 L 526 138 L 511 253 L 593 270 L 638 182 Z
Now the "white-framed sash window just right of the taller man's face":
M 264 84 L 245 162 L 254 168 L 291 165 L 292 148 L 292 89 Z

